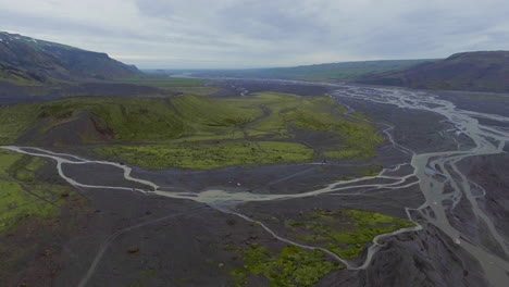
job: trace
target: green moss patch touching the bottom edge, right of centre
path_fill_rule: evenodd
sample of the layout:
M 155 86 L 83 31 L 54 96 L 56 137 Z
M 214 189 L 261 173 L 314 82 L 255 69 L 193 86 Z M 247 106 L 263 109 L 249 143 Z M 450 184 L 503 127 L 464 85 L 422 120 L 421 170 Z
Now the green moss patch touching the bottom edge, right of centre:
M 252 245 L 244 251 L 245 267 L 235 269 L 231 274 L 236 286 L 248 283 L 249 276 L 263 276 L 270 286 L 312 286 L 334 270 L 336 263 L 326 260 L 320 250 L 303 250 L 289 246 L 278 254 L 262 246 Z

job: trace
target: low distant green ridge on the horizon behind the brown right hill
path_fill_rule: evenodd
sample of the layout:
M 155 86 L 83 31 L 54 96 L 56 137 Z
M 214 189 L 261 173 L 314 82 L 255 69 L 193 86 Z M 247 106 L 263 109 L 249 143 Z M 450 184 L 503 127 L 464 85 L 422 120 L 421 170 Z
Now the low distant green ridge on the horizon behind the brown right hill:
M 345 82 L 387 71 L 398 71 L 435 60 L 385 60 L 325 63 L 293 67 L 193 71 L 195 76 L 241 77 L 241 78 L 278 78 L 314 82 Z M 169 71 L 171 72 L 171 71 Z M 182 71 L 178 71 L 182 73 Z M 162 73 L 153 71 L 153 73 Z

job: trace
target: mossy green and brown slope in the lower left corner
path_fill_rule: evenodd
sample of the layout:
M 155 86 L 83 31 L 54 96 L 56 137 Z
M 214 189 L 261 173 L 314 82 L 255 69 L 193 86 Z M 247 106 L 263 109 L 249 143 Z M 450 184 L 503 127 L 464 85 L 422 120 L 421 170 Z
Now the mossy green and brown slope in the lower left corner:
M 39 175 L 47 163 L 0 149 L 0 285 L 25 285 L 27 273 L 49 286 L 61 266 L 64 238 L 77 228 L 88 202 L 71 187 Z

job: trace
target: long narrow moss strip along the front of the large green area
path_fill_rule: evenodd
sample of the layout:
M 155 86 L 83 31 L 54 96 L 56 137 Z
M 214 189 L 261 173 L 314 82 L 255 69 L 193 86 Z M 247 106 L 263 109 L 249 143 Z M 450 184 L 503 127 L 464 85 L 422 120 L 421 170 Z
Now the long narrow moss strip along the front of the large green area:
M 145 167 L 176 166 L 194 170 L 212 170 L 240 164 L 307 162 L 313 158 L 313 150 L 306 146 L 277 141 L 110 146 L 98 148 L 96 152 Z

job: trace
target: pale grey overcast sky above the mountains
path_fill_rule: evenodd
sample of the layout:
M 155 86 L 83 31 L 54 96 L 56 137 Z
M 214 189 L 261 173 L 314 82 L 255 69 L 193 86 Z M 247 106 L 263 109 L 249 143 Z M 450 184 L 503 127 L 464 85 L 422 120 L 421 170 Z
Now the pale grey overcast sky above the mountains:
M 0 0 L 0 30 L 140 68 L 435 59 L 509 50 L 507 0 Z

